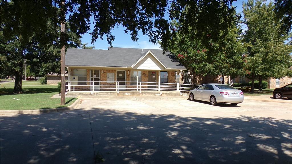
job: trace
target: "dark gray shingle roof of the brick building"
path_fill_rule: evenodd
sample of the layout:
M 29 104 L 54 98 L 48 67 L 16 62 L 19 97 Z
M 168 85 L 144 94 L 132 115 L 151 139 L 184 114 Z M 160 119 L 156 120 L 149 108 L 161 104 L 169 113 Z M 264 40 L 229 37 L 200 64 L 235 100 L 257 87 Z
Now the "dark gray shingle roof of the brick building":
M 108 50 L 91 50 L 68 48 L 66 66 L 100 66 L 100 67 L 131 67 L 149 50 L 154 53 L 166 67 L 185 69 L 170 53 L 163 54 L 162 50 L 142 48 L 108 48 Z

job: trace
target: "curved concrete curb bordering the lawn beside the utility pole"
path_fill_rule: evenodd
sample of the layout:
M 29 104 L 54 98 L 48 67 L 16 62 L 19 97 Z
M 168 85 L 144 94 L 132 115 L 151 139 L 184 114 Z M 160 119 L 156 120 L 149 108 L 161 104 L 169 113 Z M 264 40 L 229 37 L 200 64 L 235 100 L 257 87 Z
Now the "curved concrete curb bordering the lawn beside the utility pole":
M 0 110 L 0 114 L 42 114 L 42 113 L 51 113 L 51 112 L 61 112 L 66 110 L 74 110 L 81 102 L 81 99 L 77 99 L 68 107 L 62 108 L 53 108 L 53 109 L 30 109 L 30 110 Z

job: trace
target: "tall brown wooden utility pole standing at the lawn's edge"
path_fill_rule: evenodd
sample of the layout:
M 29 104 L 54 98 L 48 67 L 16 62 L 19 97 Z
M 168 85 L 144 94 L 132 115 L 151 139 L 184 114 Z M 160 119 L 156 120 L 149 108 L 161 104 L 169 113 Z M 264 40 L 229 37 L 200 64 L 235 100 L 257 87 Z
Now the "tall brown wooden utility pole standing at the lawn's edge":
M 62 1 L 62 6 L 64 5 L 65 1 Z M 63 9 L 61 7 L 61 13 L 62 11 Z M 61 37 L 65 36 L 65 22 L 66 16 L 64 12 L 63 19 L 61 19 Z M 65 105 L 65 43 L 63 41 L 64 39 L 61 38 L 61 43 L 63 44 L 63 47 L 61 48 L 61 105 Z

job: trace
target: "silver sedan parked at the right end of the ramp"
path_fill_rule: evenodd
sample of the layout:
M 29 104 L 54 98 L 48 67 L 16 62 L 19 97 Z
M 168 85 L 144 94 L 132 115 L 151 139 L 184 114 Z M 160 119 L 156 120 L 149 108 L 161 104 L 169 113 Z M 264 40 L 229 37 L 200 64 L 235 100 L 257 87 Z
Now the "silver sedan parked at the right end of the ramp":
M 244 96 L 241 90 L 227 84 L 203 84 L 189 93 L 190 100 L 203 100 L 217 105 L 219 102 L 237 105 L 243 102 Z

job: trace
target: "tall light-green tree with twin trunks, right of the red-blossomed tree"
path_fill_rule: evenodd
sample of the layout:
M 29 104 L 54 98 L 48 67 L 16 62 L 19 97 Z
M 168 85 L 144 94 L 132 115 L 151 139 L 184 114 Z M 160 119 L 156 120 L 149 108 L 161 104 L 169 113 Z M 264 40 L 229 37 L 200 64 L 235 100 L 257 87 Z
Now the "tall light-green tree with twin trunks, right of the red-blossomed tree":
M 251 78 L 251 92 L 254 93 L 254 80 L 285 76 L 283 70 L 291 66 L 291 47 L 285 44 L 288 35 L 281 33 L 281 23 L 275 19 L 274 5 L 266 1 L 249 0 L 243 3 L 244 23 L 247 30 L 244 40 L 250 43 L 246 54 L 245 68 Z

